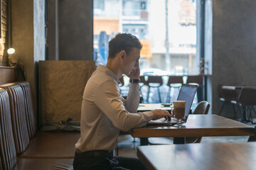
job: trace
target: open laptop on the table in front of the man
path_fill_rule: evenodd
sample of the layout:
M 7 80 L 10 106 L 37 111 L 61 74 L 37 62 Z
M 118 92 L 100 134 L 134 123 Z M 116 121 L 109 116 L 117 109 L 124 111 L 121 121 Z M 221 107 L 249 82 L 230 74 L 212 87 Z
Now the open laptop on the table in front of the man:
M 198 89 L 198 85 L 196 84 L 181 85 L 181 89 L 178 93 L 177 101 L 186 101 L 183 123 L 186 123 L 186 120 L 188 119 L 188 114 L 191 111 L 191 106 L 193 103 L 193 99 L 196 96 L 197 89 Z M 177 124 L 176 118 L 171 118 L 171 120 L 168 120 L 166 118 L 161 118 L 158 120 L 151 120 L 149 123 L 147 123 L 147 125 L 175 125 L 175 124 Z

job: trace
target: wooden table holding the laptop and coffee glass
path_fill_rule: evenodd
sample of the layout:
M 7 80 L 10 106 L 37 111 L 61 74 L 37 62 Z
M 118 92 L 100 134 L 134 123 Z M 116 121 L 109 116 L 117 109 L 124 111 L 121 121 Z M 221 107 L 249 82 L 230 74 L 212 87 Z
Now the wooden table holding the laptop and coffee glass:
M 250 125 L 225 118 L 220 115 L 188 115 L 183 128 L 174 126 L 152 126 L 135 128 L 130 131 L 132 137 L 210 137 L 210 136 L 255 136 L 255 129 Z M 177 141 L 174 143 L 183 143 Z M 141 145 L 147 145 L 144 140 Z

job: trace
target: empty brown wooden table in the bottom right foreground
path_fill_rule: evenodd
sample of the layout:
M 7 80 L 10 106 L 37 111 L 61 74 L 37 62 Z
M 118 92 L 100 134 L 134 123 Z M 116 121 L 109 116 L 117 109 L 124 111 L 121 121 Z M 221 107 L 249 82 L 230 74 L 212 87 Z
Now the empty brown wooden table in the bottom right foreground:
M 146 169 L 255 169 L 256 142 L 199 143 L 137 147 Z

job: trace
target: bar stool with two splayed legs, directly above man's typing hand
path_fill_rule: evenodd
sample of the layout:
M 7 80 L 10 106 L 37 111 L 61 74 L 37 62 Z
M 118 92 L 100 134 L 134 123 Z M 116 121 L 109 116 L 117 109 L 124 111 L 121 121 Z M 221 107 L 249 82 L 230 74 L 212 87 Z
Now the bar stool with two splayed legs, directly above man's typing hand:
M 161 103 L 161 94 L 160 94 L 160 86 L 163 85 L 163 79 L 161 76 L 149 76 L 149 79 L 146 81 L 147 86 L 149 86 L 148 94 L 146 97 L 147 103 L 149 103 L 149 93 L 151 88 L 157 88 L 159 94 L 159 103 Z

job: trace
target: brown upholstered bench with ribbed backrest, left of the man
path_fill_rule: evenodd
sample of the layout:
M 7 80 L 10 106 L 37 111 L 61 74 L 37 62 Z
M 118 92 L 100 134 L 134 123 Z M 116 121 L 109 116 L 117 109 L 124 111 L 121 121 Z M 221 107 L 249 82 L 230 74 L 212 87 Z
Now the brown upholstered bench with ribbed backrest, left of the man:
M 80 132 L 37 129 L 28 81 L 0 85 L 0 169 L 73 169 Z

